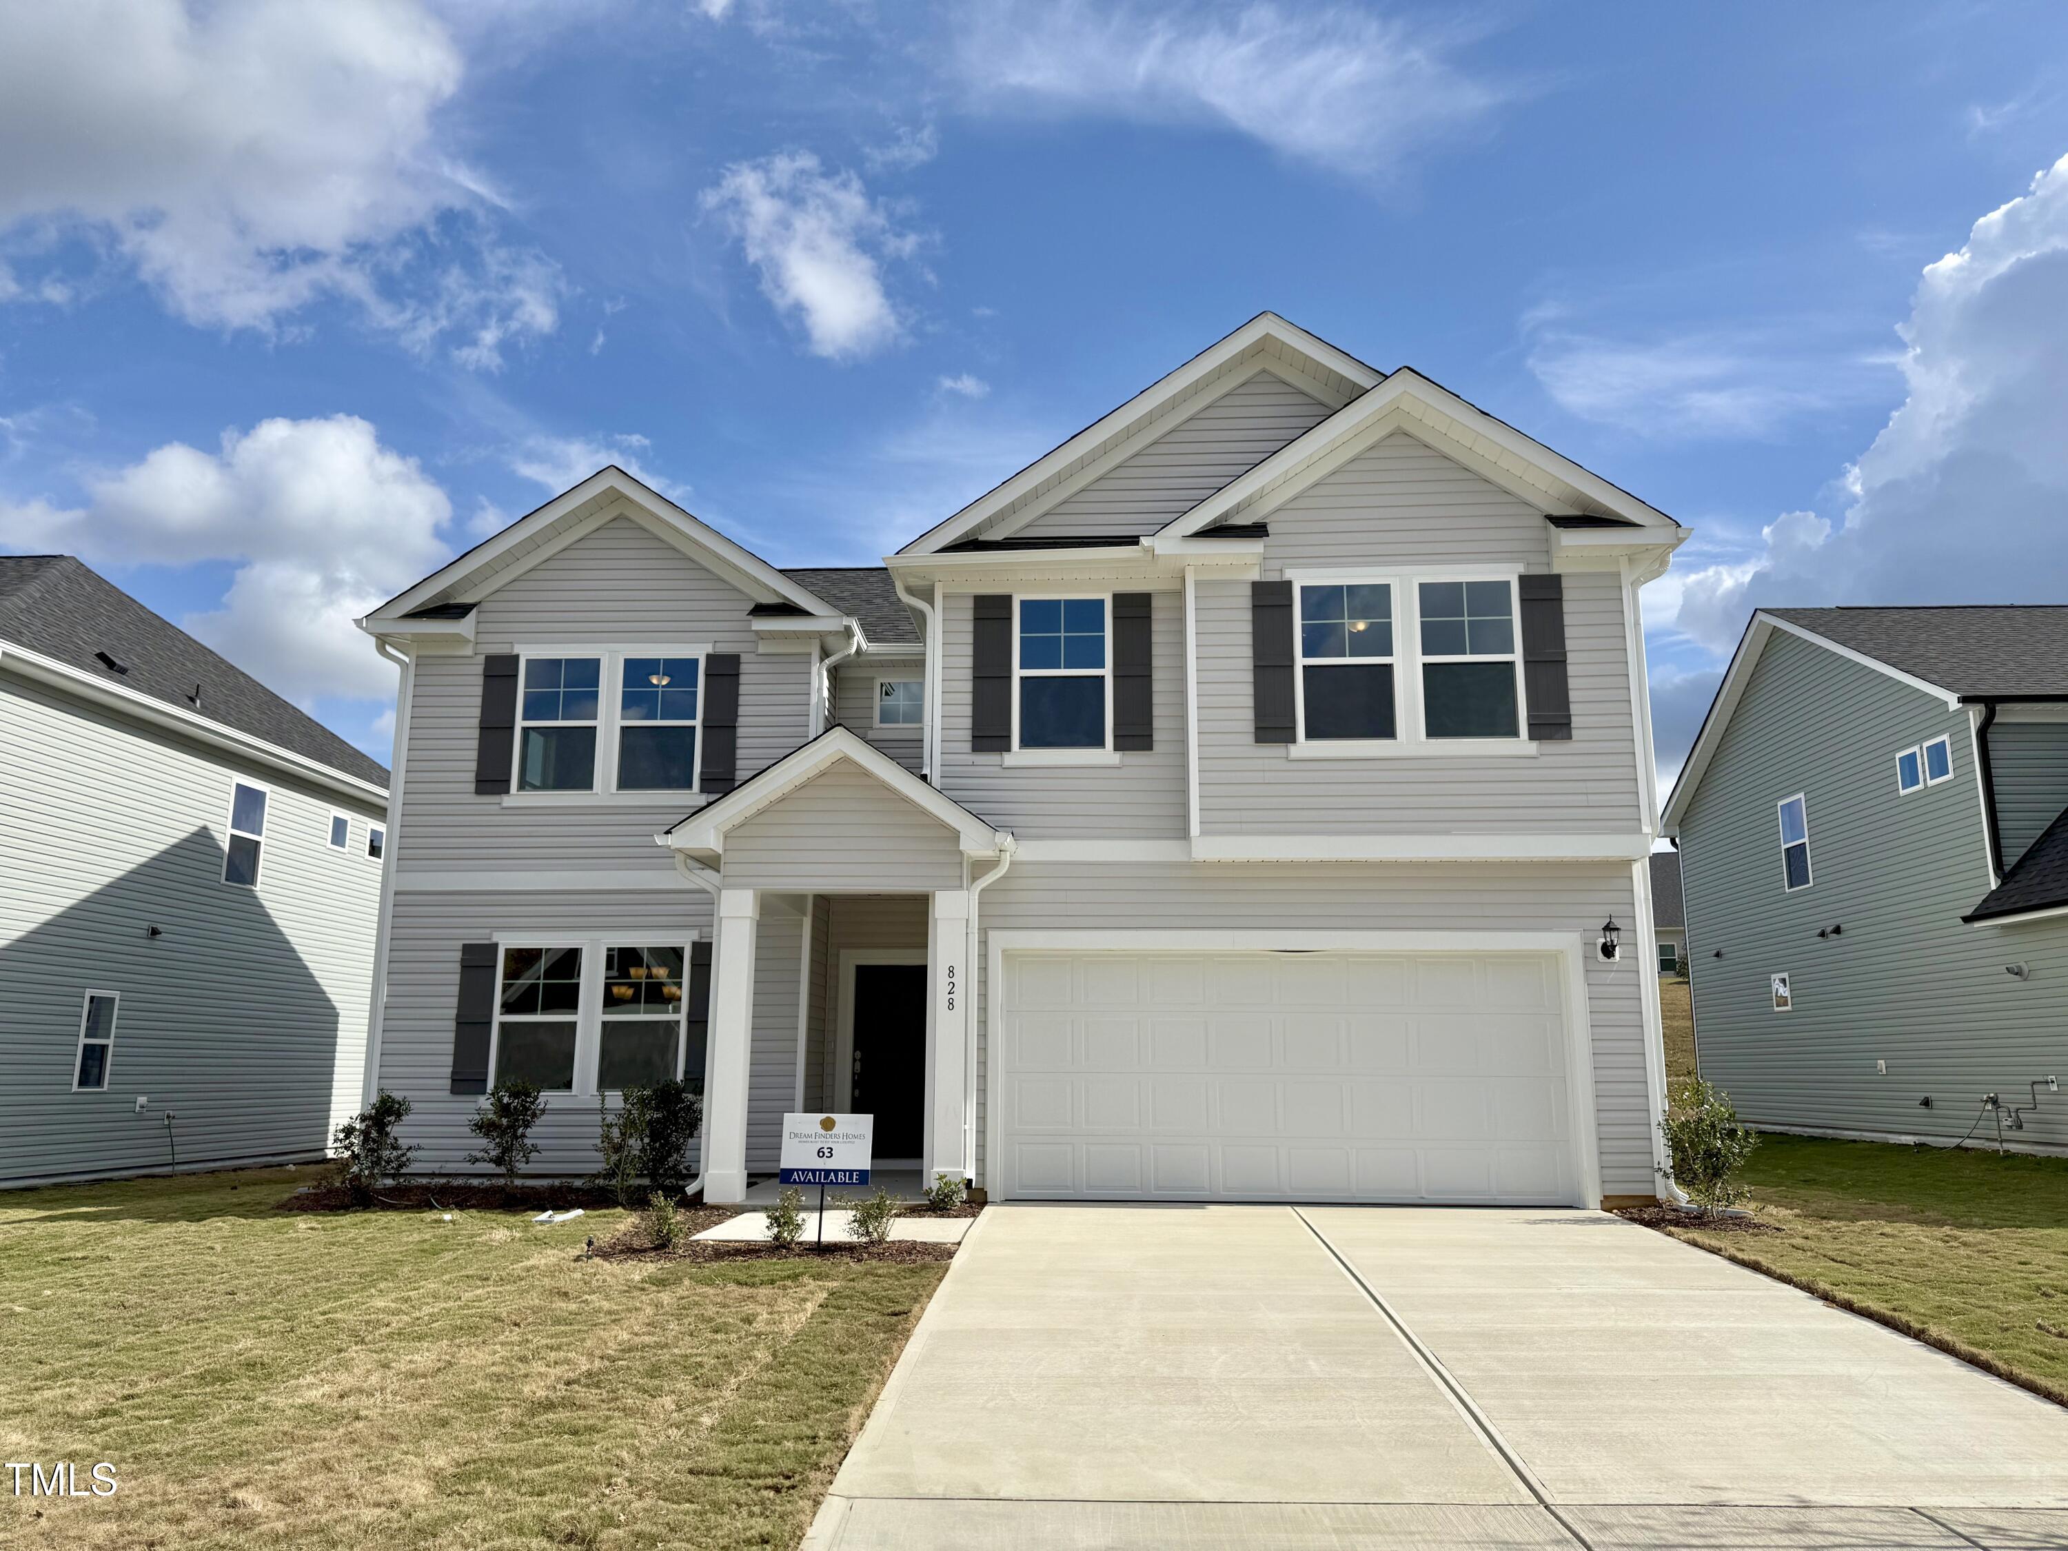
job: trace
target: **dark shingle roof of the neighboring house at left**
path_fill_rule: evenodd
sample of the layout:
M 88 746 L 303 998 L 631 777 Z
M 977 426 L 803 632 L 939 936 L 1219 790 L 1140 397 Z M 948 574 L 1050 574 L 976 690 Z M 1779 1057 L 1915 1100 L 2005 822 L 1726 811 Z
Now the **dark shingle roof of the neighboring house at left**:
M 0 556 L 0 641 L 387 790 L 381 761 L 70 554 Z

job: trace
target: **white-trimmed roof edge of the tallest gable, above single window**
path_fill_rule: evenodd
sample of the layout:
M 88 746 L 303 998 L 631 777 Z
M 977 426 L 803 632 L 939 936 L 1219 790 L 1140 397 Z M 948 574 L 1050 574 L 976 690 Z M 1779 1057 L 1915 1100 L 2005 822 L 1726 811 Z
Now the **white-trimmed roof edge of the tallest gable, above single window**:
M 1146 447 L 1154 434 L 1189 414 L 1187 405 L 1197 395 L 1233 372 L 1249 376 L 1257 366 L 1311 376 L 1324 393 L 1342 403 L 1386 381 L 1386 372 L 1286 323 L 1276 312 L 1259 312 L 898 552 L 933 554 L 986 525 L 1003 525 L 1067 480 Z

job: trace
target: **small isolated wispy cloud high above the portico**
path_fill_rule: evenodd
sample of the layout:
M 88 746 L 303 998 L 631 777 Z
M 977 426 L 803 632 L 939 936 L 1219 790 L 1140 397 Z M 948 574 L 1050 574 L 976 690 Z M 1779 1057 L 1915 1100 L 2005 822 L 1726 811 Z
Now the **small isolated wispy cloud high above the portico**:
M 883 267 L 910 258 L 918 238 L 852 172 L 829 174 L 809 151 L 738 161 L 703 207 L 740 242 L 761 294 L 804 325 L 815 356 L 856 360 L 904 335 Z

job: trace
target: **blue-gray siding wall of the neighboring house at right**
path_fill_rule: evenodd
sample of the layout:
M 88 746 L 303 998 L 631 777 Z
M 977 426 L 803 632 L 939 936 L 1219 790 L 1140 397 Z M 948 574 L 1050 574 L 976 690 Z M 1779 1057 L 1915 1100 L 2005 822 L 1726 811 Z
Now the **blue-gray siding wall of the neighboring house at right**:
M 1898 796 L 1896 753 L 1940 734 L 1954 778 Z M 1789 893 L 1776 802 L 1797 792 L 1812 885 Z M 1960 924 L 1989 889 L 1963 711 L 1776 631 L 1679 844 L 1702 1075 L 1747 1121 L 1950 1142 L 1981 1094 L 2068 1075 L 2068 922 Z M 1774 972 L 1793 1011 L 1772 1011 Z M 2018 1139 L 2068 1144 L 2068 1096 Z

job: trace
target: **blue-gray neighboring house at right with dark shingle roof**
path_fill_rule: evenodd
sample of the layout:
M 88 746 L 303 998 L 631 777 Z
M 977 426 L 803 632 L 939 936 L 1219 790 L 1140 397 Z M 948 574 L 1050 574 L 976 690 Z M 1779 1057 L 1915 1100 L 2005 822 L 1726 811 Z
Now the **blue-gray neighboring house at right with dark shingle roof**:
M 2064 811 L 2068 608 L 1754 614 L 1667 809 L 1702 1075 L 1776 1131 L 2068 1146 Z

